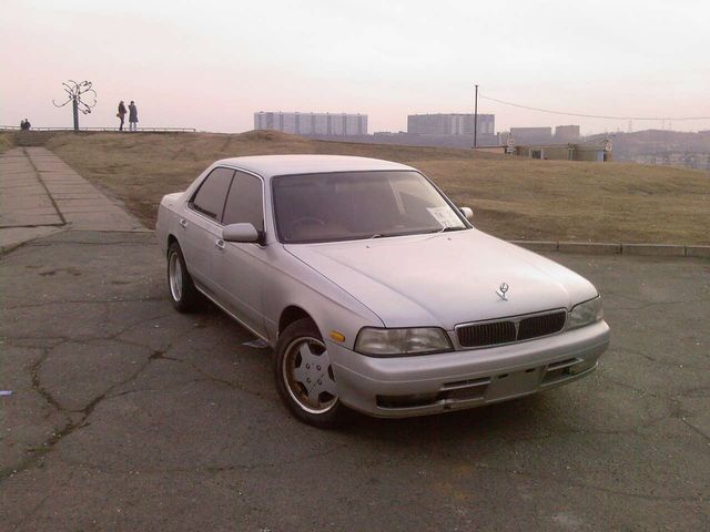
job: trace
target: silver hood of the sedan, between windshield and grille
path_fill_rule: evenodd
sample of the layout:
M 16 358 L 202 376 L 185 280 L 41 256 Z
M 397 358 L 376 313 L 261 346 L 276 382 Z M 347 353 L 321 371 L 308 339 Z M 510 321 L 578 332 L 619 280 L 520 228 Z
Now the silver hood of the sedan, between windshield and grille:
M 467 321 L 570 308 L 597 295 L 564 266 L 477 229 L 284 247 L 387 327 L 452 330 Z M 508 300 L 496 294 L 501 283 Z

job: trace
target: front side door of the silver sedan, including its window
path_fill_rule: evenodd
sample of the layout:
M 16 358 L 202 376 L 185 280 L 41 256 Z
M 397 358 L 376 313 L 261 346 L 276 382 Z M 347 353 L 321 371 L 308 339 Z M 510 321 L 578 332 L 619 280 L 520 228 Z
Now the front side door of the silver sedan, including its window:
M 261 177 L 237 171 L 227 194 L 222 223 L 250 223 L 264 231 L 264 183 Z M 266 336 L 262 308 L 264 277 L 268 275 L 267 249 L 256 243 L 224 243 L 215 277 L 220 300 L 255 332 Z

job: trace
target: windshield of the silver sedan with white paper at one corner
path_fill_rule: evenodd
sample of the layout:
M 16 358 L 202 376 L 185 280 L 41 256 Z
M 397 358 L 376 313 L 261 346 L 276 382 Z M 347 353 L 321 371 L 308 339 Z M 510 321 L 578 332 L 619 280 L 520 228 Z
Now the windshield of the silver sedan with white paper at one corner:
M 272 181 L 276 228 L 284 243 L 467 228 L 460 213 L 417 172 L 284 175 Z

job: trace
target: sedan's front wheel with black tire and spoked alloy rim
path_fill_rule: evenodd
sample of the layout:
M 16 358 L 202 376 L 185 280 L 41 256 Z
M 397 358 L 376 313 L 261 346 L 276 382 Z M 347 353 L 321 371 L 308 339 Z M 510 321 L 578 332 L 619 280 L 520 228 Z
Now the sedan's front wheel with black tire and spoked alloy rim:
M 308 360 L 302 358 L 302 348 Z M 321 361 L 324 355 L 324 361 Z M 278 336 L 274 374 L 282 400 L 301 421 L 320 429 L 333 429 L 349 419 L 351 410 L 339 401 L 325 342 L 313 320 L 294 321 Z M 317 393 L 315 401 L 312 393 Z

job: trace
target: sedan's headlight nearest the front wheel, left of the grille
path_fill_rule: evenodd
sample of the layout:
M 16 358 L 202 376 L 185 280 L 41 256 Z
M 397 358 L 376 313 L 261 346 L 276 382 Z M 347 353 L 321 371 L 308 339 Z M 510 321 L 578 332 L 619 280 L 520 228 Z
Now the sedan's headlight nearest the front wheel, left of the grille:
M 454 348 L 444 329 L 377 329 L 364 327 L 355 340 L 355 350 L 371 357 L 402 357 L 450 351 Z

